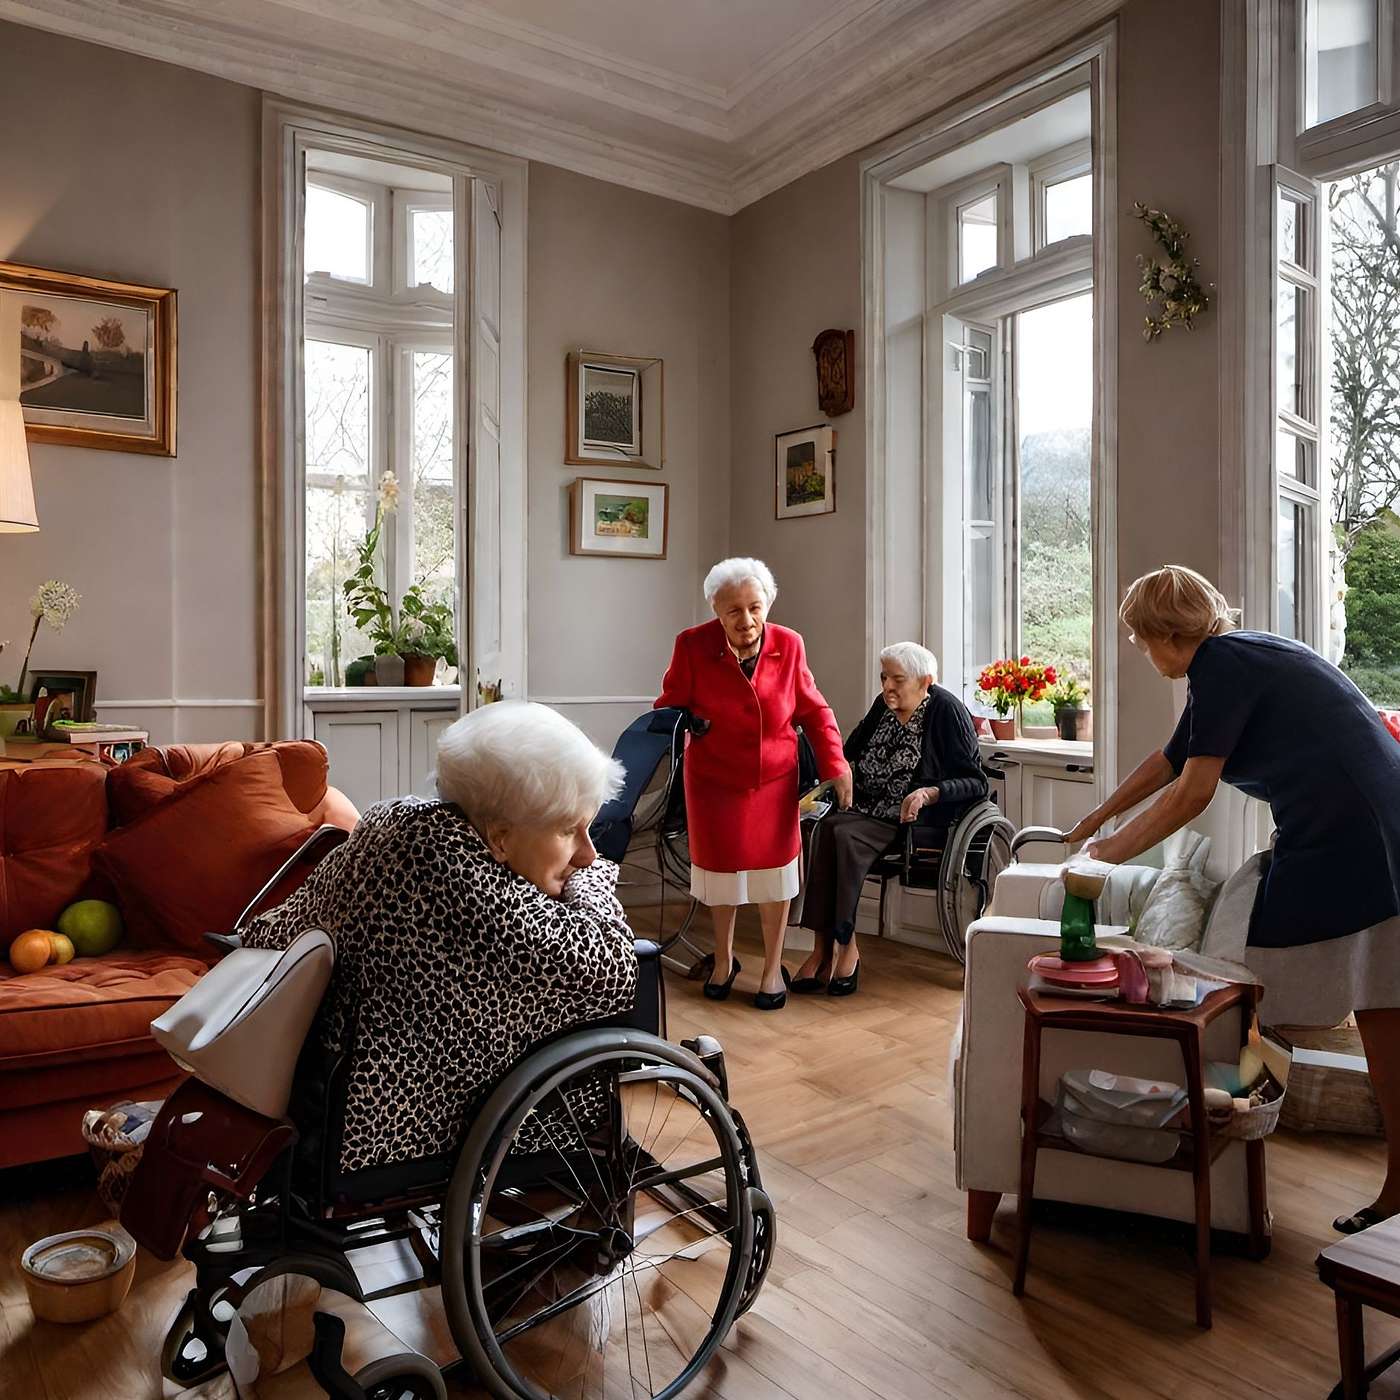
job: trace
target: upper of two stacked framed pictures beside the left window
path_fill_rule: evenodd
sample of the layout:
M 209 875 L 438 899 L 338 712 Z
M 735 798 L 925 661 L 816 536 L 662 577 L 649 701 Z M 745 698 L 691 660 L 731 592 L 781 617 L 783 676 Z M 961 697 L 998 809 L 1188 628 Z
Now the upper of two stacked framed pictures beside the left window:
M 665 465 L 665 365 L 647 356 L 574 350 L 564 361 L 564 462 Z

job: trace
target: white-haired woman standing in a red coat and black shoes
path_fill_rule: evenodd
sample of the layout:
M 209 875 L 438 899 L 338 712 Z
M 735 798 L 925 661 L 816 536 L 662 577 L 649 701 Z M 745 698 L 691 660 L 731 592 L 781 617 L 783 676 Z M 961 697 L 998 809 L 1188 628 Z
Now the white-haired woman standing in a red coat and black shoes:
M 851 802 L 851 770 L 832 707 L 816 689 L 798 633 L 767 620 L 777 584 L 757 559 L 725 559 L 706 575 L 714 620 L 687 627 L 661 683 L 657 707 L 689 710 L 686 819 L 690 893 L 710 907 L 714 970 L 704 994 L 729 995 L 739 973 L 734 918 L 757 904 L 763 976 L 753 1004 L 787 1001 L 783 934 L 798 890 L 797 725 L 816 752 L 818 773 Z

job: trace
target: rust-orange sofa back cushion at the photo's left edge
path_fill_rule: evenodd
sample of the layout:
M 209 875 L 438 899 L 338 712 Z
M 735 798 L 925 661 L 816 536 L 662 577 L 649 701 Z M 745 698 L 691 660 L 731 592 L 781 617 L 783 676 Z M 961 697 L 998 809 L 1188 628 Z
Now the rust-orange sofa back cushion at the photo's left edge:
M 106 834 L 104 780 L 97 763 L 0 771 L 0 953 L 88 892 Z

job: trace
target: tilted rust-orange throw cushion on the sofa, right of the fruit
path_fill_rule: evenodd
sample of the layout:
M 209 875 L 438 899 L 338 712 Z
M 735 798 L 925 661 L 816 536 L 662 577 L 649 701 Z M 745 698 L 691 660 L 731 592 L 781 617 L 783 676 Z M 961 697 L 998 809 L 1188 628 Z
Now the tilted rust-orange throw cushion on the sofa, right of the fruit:
M 113 830 L 95 864 L 133 941 L 199 951 L 206 932 L 232 925 L 314 826 L 288 797 L 277 753 L 258 749 Z

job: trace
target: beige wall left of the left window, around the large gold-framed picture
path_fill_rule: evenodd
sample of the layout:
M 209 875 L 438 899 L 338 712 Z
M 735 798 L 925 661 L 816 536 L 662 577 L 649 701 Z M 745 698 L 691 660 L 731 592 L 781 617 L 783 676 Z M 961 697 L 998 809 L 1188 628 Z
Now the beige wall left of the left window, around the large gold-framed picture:
M 98 699 L 255 700 L 258 94 L 0 24 L 0 260 L 179 288 L 179 456 L 31 448 L 38 535 L 0 538 L 0 680 L 27 599 L 83 606 L 34 662 Z M 252 736 L 256 708 L 105 711 L 155 739 Z

